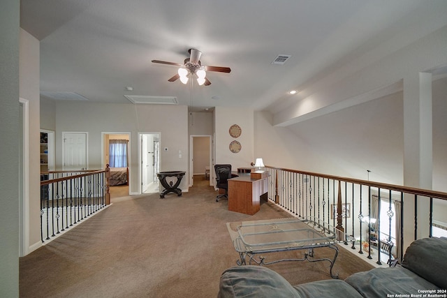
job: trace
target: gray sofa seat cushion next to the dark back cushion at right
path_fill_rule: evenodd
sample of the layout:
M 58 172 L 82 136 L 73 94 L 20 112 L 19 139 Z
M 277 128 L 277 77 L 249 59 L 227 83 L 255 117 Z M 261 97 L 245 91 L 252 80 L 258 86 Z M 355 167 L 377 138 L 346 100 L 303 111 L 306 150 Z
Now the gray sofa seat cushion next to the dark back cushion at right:
M 389 297 L 387 295 L 396 294 L 419 295 L 421 290 L 438 288 L 400 265 L 358 272 L 346 278 L 345 281 L 365 298 Z

